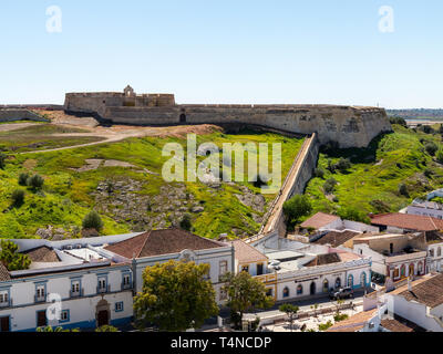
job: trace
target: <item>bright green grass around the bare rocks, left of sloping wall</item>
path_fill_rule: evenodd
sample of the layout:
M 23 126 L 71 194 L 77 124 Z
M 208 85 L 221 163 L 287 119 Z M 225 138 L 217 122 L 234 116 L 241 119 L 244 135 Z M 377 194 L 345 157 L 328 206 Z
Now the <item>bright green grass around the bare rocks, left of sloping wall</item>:
M 48 129 L 44 126 L 42 128 Z M 25 134 L 27 132 L 24 131 Z M 20 134 L 17 135 L 18 138 L 20 136 Z M 197 139 L 198 144 L 214 142 L 217 146 L 234 142 L 281 143 L 282 179 L 289 171 L 302 144 L 302 139 L 284 137 L 278 134 L 255 134 L 253 132 L 244 132 L 238 135 L 214 133 L 198 136 Z M 95 200 L 92 192 L 96 190 L 101 181 L 106 179 L 132 178 L 140 180 L 143 183 L 143 188 L 138 191 L 141 195 L 157 195 L 161 187 L 167 185 L 161 177 L 163 164 L 169 159 L 169 157 L 162 156 L 162 148 L 166 143 L 178 143 L 186 147 L 186 139 L 184 138 L 145 137 L 44 154 L 11 154 L 6 169 L 0 170 L 0 211 L 3 211 L 0 212 L 0 237 L 34 237 L 38 228 L 48 225 L 65 229 L 80 228 L 83 217 L 94 207 Z M 270 158 L 271 149 L 268 153 Z M 100 167 L 84 173 L 73 170 L 82 167 L 85 159 L 89 158 L 127 162 L 135 165 L 140 170 L 122 167 Z M 198 157 L 198 160 L 200 162 L 204 158 Z M 158 175 L 144 173 L 144 168 Z M 28 190 L 24 205 L 11 209 L 10 196 L 12 191 L 17 188 L 23 188 L 18 186 L 18 176 L 22 171 L 38 173 L 44 177 L 43 194 L 34 194 Z M 175 185 L 177 183 L 171 184 L 171 186 Z M 233 228 L 249 235 L 254 235 L 259 229 L 259 225 L 253 219 L 254 210 L 240 204 L 234 196 L 234 194 L 241 194 L 240 185 L 247 186 L 255 192 L 260 192 L 259 188 L 248 181 L 235 185 L 223 184 L 219 189 L 213 189 L 199 181 L 186 183 L 187 192 L 193 194 L 195 199 L 205 207 L 204 212 L 193 214 L 195 233 L 215 238 L 219 233 L 226 232 L 233 237 Z M 265 196 L 267 201 L 272 200 L 274 197 L 274 195 Z M 148 216 L 153 216 L 152 211 L 146 212 Z M 102 218 L 105 223 L 103 235 L 131 231 L 130 222 L 117 222 L 113 219 L 112 214 L 102 215 Z

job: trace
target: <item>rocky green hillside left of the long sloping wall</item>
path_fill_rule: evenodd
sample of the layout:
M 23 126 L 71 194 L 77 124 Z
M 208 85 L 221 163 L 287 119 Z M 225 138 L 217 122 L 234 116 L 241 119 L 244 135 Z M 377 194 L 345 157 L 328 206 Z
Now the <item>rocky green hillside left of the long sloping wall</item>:
M 220 147 L 225 142 L 281 143 L 282 178 L 302 144 L 302 139 L 253 132 L 198 136 L 198 144 L 203 142 Z M 214 238 L 223 232 L 231 237 L 254 235 L 266 208 L 259 211 L 240 202 L 238 196 L 253 198 L 260 189 L 249 183 L 224 183 L 218 187 L 199 181 L 166 184 L 161 176 L 163 164 L 169 159 L 162 157 L 166 143 L 186 147 L 185 138 L 145 137 L 53 153 L 11 154 L 4 170 L 0 170 L 0 237 L 35 237 L 35 231 L 47 226 L 75 236 L 92 208 L 102 215 L 103 235 L 168 227 L 185 214 L 192 216 L 194 231 L 204 237 Z M 89 169 L 86 159 L 102 162 L 96 169 Z M 106 167 L 105 163 L 115 160 L 132 166 Z M 23 171 L 42 175 L 43 190 L 34 192 L 20 187 L 18 177 Z M 14 189 L 27 189 L 24 204 L 19 208 L 11 207 Z M 265 196 L 266 202 L 272 197 Z

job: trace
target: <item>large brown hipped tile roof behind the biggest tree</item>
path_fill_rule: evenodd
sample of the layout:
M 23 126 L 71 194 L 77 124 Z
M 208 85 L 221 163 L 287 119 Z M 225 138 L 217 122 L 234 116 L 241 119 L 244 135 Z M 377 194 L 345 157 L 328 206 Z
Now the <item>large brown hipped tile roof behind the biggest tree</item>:
M 178 253 L 183 250 L 206 250 L 226 243 L 205 239 L 182 229 L 153 230 L 105 247 L 105 250 L 132 259 Z

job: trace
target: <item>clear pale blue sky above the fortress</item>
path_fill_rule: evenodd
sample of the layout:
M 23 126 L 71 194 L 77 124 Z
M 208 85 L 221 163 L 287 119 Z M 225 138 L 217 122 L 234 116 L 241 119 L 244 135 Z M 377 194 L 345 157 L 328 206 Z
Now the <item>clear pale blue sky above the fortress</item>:
M 131 84 L 178 103 L 443 107 L 442 14 L 441 0 L 2 0 L 0 103 Z

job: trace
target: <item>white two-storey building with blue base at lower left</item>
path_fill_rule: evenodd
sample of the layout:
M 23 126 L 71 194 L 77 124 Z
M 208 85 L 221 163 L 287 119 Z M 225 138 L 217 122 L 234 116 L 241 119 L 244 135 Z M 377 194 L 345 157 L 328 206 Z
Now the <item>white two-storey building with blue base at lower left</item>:
M 21 271 L 8 271 L 1 266 L 0 331 L 35 331 L 47 325 L 95 329 L 128 323 L 133 315 L 132 266 L 103 257 L 94 246 L 101 240 L 14 240 L 32 263 Z

